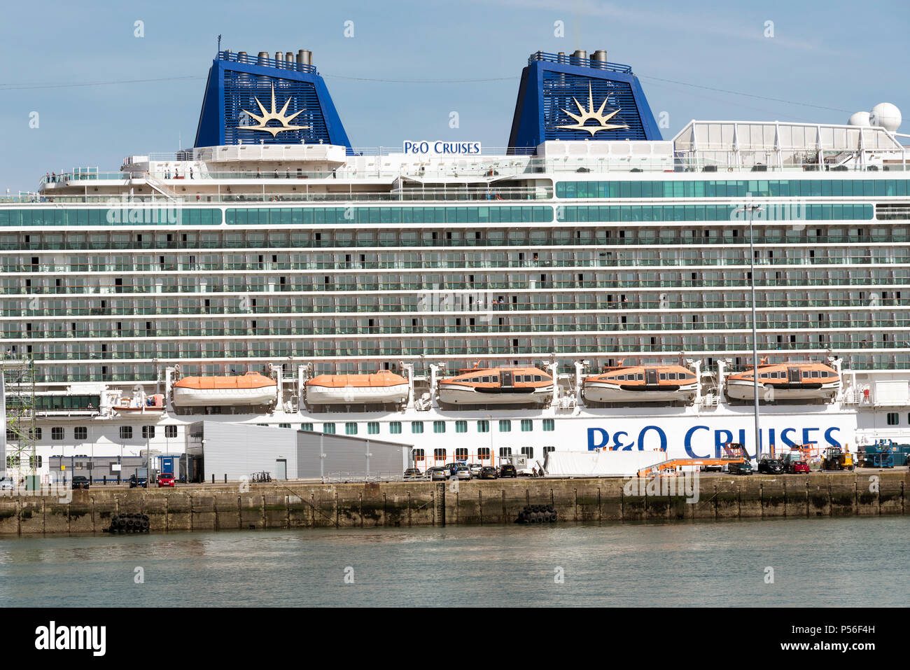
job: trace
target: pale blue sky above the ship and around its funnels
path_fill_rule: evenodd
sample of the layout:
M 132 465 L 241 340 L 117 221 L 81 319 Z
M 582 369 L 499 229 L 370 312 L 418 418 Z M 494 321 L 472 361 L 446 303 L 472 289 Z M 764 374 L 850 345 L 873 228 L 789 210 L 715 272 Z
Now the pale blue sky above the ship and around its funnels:
M 16 3 L 0 24 L 0 192 L 34 190 L 47 171 L 116 170 L 127 155 L 191 146 L 218 34 L 233 51 L 313 51 L 357 147 L 501 147 L 538 49 L 604 48 L 631 65 L 655 116 L 669 114 L 664 137 L 692 118 L 845 123 L 885 101 L 908 119 L 908 28 L 906 2 Z M 136 79 L 157 81 L 83 86 Z M 389 79 L 406 81 L 377 81 Z M 493 80 L 439 81 L 452 79 Z

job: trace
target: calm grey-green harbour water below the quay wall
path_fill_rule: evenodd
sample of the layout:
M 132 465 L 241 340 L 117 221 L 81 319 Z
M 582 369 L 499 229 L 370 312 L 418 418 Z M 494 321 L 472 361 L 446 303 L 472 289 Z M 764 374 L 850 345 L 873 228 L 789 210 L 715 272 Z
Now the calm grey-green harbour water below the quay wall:
M 905 517 L 0 540 L 2 606 L 904 606 L 908 584 Z

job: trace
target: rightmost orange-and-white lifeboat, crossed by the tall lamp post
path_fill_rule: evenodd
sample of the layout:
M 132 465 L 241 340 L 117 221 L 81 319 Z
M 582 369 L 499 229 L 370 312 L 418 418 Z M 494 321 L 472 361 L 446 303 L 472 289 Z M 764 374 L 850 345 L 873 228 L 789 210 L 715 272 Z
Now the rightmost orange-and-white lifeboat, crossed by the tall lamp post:
M 752 366 L 727 377 L 727 397 L 751 401 L 754 398 Z M 841 388 L 840 375 L 825 363 L 774 363 L 758 365 L 759 400 L 792 401 L 828 399 Z

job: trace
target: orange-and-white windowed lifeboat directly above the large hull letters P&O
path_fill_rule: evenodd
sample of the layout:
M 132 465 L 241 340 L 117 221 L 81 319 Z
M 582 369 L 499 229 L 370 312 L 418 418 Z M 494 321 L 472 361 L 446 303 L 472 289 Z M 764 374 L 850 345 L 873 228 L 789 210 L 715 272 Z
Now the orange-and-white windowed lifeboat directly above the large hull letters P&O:
M 582 384 L 586 401 L 692 401 L 698 393 L 695 373 L 682 365 L 622 365 L 605 368 Z

